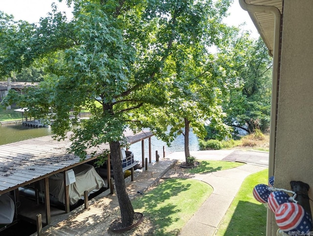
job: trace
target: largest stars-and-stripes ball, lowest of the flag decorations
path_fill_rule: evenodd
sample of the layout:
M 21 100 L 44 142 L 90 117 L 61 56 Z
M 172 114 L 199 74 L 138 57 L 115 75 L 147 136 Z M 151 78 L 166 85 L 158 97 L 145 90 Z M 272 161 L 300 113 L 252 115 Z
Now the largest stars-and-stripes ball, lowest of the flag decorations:
M 312 219 L 304 208 L 293 202 L 281 204 L 275 211 L 278 227 L 284 232 L 308 233 L 312 229 Z

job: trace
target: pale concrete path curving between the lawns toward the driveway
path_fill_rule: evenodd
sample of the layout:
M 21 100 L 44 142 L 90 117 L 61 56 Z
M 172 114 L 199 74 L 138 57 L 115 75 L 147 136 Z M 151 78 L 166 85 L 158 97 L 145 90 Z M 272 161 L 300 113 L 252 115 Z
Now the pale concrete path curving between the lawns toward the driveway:
M 192 152 L 192 155 L 196 157 L 196 159 L 202 160 L 223 160 L 225 157 L 229 157 L 233 152 L 234 150 L 198 151 Z M 238 155 L 238 151 L 235 151 L 235 153 Z M 268 154 L 265 153 L 265 158 L 267 155 Z M 179 153 L 173 153 L 173 155 L 169 155 L 167 158 L 178 157 Z M 179 236 L 214 236 L 221 220 L 224 217 L 224 214 L 232 203 L 244 179 L 248 175 L 266 168 L 266 165 L 246 164 L 232 169 L 188 176 L 188 178 L 193 178 L 208 183 L 213 187 L 213 192 L 203 203 L 201 208 L 182 228 Z M 164 177 L 184 176 L 169 170 Z

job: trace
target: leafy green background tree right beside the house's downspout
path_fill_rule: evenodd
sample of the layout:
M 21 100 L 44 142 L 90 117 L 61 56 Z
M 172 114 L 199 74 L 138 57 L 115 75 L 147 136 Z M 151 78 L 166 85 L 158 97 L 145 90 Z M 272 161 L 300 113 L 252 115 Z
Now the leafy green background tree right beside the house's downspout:
M 223 93 L 225 122 L 253 133 L 269 127 L 272 59 L 261 39 L 233 28 L 221 45 L 217 63 L 228 81 Z

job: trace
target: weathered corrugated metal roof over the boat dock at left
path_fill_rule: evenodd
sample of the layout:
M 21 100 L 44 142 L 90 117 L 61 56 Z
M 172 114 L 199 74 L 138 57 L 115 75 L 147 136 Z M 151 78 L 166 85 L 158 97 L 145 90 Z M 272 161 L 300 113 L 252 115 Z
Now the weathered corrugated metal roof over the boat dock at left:
M 132 144 L 153 136 L 152 132 L 134 134 L 126 131 L 127 141 Z M 64 141 L 56 141 L 52 136 L 29 139 L 0 145 L 0 195 L 27 184 L 44 179 L 52 174 L 89 162 L 92 151 L 101 154 L 110 150 L 109 143 L 88 150 L 84 161 L 67 153 L 70 146 L 69 135 Z

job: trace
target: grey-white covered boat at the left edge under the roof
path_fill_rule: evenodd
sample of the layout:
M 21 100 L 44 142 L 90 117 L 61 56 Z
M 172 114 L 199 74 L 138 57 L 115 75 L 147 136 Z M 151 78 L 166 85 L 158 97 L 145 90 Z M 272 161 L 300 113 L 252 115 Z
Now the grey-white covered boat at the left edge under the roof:
M 14 217 L 14 202 L 8 195 L 0 195 L 0 224 L 10 224 Z

